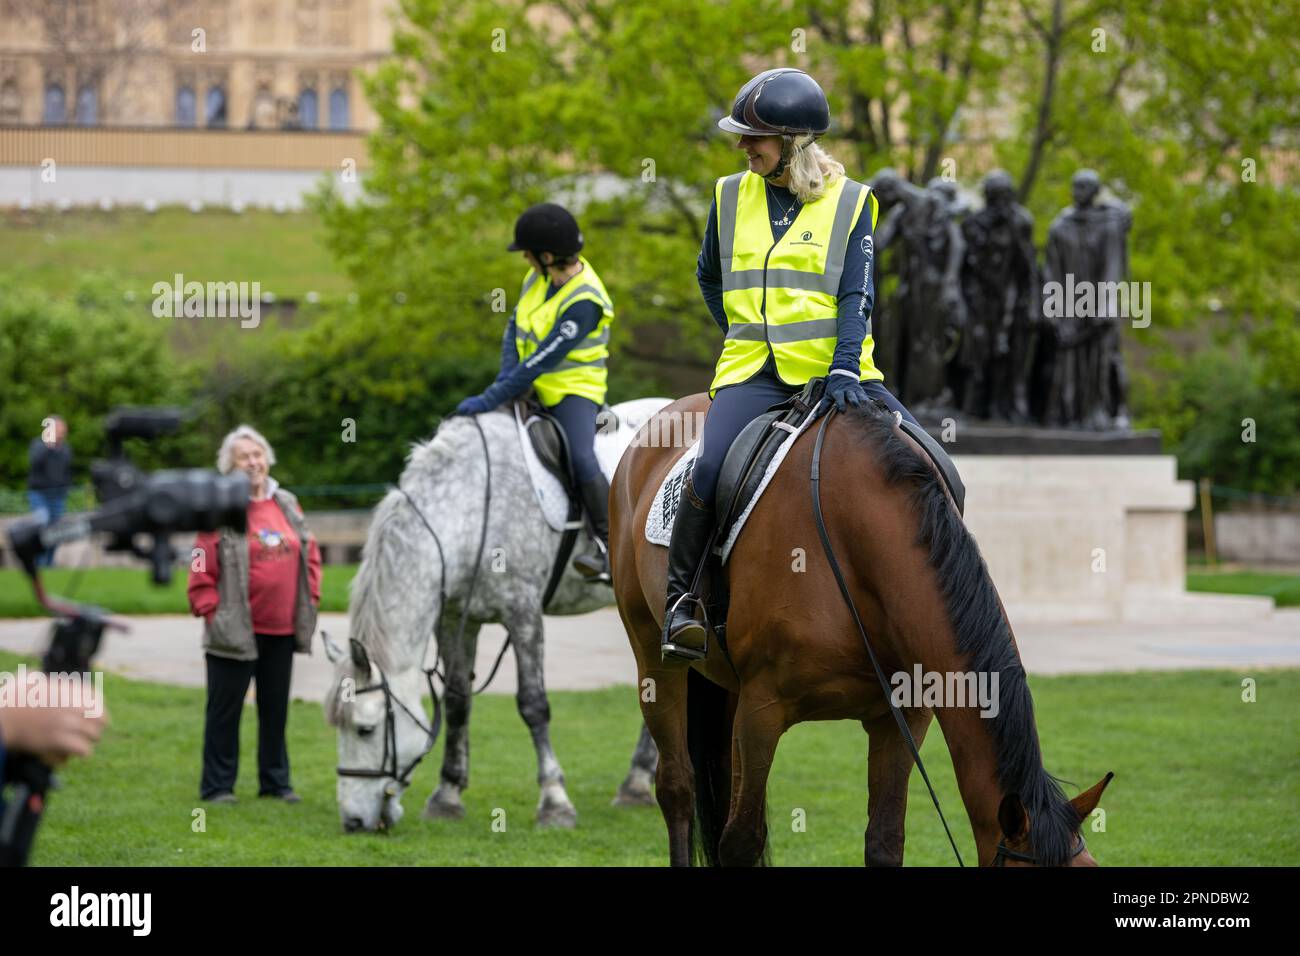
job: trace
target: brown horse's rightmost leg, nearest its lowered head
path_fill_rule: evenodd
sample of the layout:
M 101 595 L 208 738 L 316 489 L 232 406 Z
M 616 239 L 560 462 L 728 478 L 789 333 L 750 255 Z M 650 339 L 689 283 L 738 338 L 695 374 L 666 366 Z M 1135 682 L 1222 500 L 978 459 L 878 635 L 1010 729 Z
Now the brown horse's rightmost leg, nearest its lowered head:
M 902 715 L 919 750 L 935 714 L 927 708 L 907 708 Z M 907 749 L 898 723 L 888 710 L 874 721 L 863 721 L 862 726 L 871 741 L 867 756 L 864 858 L 867 866 L 902 866 L 911 750 Z

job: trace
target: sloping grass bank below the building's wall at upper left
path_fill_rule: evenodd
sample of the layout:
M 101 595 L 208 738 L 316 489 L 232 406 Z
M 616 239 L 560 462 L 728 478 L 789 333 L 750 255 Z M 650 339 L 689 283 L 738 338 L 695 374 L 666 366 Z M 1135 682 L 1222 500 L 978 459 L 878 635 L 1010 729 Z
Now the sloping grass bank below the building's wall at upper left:
M 186 281 L 257 281 L 281 299 L 302 299 L 308 291 L 338 298 L 351 287 L 311 212 L 165 207 L 152 215 L 133 208 L 10 213 L 0 216 L 0 263 L 55 295 L 66 294 L 69 276 L 112 271 L 126 280 L 124 293 L 133 290 L 144 303 L 155 282 L 170 282 L 177 272 Z

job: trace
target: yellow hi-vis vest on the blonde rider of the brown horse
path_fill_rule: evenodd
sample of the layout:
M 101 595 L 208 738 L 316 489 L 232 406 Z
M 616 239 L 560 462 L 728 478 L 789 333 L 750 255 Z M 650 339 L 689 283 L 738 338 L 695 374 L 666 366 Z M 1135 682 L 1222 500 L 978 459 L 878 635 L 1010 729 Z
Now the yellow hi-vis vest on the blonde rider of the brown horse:
M 774 243 L 763 186 L 764 179 L 748 170 L 715 186 L 728 328 L 710 395 L 749 380 L 767 362 L 768 350 L 788 385 L 803 385 L 831 369 L 849 233 L 868 202 L 872 230 L 876 226 L 875 194 L 841 176 L 819 199 L 805 203 Z M 859 359 L 862 381 L 884 378 L 871 360 L 874 346 L 868 316 Z

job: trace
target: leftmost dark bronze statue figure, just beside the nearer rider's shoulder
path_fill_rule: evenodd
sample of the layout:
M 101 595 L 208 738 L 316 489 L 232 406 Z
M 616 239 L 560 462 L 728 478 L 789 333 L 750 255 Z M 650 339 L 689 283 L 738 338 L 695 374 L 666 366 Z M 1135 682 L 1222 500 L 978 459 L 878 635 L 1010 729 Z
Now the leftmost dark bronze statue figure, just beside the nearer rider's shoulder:
M 876 173 L 871 187 L 888 209 L 876 230 L 876 250 L 900 243 L 893 258 L 898 287 L 885 307 L 885 321 L 874 323 L 874 334 L 894 394 L 923 412 L 949 401 L 949 329 L 962 321 L 961 230 L 948 196 L 914 186 L 893 169 Z

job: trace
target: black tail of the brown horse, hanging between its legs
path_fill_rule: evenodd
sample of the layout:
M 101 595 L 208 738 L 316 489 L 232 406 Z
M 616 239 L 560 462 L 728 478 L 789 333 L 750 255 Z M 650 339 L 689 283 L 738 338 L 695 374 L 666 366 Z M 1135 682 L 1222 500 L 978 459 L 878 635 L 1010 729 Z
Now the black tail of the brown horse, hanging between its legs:
M 690 848 L 697 866 L 720 866 L 723 827 L 731 812 L 731 749 L 736 697 L 692 670 L 686 675 L 686 752 L 696 778 Z M 763 816 L 767 810 L 764 806 Z M 770 862 L 767 840 L 759 866 Z

